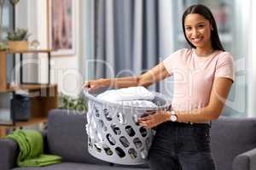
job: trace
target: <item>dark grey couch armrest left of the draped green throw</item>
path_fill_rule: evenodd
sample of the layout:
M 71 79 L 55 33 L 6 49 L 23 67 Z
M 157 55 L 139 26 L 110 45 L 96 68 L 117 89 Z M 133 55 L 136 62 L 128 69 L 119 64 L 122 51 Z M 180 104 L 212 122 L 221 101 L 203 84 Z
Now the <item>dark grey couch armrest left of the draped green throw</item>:
M 16 166 L 19 147 L 12 139 L 0 139 L 0 169 L 10 170 Z

